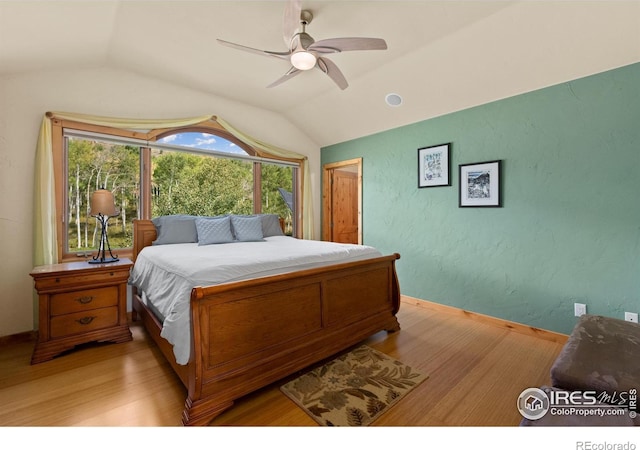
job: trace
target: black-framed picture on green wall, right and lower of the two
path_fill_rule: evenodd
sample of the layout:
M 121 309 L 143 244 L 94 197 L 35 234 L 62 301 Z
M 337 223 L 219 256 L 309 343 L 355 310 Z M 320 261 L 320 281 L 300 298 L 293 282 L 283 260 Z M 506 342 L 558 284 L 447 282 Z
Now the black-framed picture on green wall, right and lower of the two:
M 502 160 L 460 164 L 460 207 L 502 206 Z

